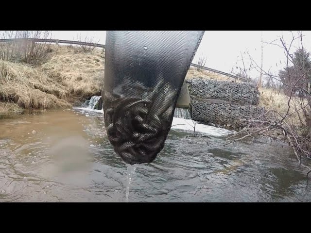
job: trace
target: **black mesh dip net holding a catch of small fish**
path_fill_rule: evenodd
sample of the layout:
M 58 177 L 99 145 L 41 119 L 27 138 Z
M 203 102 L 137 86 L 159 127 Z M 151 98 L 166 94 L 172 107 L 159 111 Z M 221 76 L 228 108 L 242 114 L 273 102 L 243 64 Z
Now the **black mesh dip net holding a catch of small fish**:
M 110 143 L 128 164 L 152 162 L 204 31 L 107 31 L 102 97 Z

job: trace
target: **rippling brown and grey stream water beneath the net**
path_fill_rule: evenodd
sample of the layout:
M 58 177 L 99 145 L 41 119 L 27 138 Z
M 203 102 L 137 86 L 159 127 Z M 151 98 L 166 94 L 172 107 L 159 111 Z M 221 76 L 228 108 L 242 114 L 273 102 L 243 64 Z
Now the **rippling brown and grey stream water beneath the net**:
M 103 120 L 83 109 L 0 119 L 0 201 L 124 202 L 127 166 Z M 224 147 L 223 131 L 201 128 L 210 139 L 171 130 L 154 163 L 137 166 L 130 202 L 311 201 L 286 145 L 257 139 Z

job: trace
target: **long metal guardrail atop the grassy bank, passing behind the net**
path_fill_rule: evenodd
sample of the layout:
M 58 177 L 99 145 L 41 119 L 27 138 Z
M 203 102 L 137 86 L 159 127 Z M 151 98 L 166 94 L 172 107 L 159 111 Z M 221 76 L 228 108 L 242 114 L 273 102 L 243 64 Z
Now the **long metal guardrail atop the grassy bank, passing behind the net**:
M 21 38 L 21 39 L 0 39 L 0 42 L 12 42 L 12 41 L 24 41 L 25 39 Z M 34 39 L 34 38 L 27 38 L 27 40 L 35 40 L 35 42 L 45 42 L 45 43 L 60 43 L 60 44 L 71 44 L 71 45 L 85 45 L 85 46 L 91 46 L 91 47 L 97 47 L 97 48 L 105 48 L 105 45 L 103 44 L 95 44 L 95 43 L 88 43 L 88 42 L 81 42 L 81 41 L 73 41 L 73 40 L 56 40 L 56 39 Z M 190 66 L 192 67 L 201 67 L 197 64 L 193 64 L 191 63 Z M 247 82 L 247 79 L 243 78 L 243 77 L 238 77 L 236 75 L 232 75 L 229 73 L 225 73 L 223 71 L 220 70 L 216 70 L 216 69 L 212 69 L 212 68 L 208 68 L 208 67 L 202 67 L 205 70 L 211 71 L 211 72 L 215 72 L 218 74 L 222 74 L 234 79 L 238 79 L 241 80 L 243 82 Z

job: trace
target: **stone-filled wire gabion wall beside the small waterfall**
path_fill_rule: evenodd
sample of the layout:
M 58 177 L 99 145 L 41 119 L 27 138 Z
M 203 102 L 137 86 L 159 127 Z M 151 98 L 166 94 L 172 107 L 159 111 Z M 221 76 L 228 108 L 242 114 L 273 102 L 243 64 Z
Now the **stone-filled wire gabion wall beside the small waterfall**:
M 192 79 L 189 86 L 193 120 L 242 127 L 244 119 L 260 116 L 259 91 L 249 83 Z

